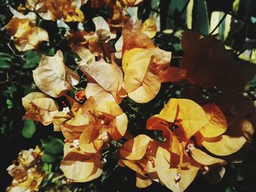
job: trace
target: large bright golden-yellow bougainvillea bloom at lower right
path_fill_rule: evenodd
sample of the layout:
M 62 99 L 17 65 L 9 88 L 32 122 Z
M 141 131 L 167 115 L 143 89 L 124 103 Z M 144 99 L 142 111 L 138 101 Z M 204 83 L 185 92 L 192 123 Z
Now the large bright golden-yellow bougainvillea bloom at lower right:
M 170 99 L 159 115 L 148 119 L 147 128 L 162 131 L 165 138 L 157 150 L 156 166 L 159 180 L 172 191 L 184 191 L 200 167 L 208 169 L 226 163 L 199 147 L 215 155 L 230 155 L 246 141 L 243 137 L 222 135 L 227 122 L 217 105 L 200 107 L 189 99 Z

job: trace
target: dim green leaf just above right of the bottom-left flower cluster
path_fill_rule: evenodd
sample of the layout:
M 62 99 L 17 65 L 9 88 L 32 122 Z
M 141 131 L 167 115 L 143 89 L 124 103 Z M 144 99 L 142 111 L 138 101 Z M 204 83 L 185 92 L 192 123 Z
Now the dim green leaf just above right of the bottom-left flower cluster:
M 61 139 L 57 139 L 54 137 L 50 137 L 48 141 L 42 142 L 42 148 L 44 149 L 45 153 L 50 154 L 58 154 L 61 153 L 63 150 L 64 142 Z

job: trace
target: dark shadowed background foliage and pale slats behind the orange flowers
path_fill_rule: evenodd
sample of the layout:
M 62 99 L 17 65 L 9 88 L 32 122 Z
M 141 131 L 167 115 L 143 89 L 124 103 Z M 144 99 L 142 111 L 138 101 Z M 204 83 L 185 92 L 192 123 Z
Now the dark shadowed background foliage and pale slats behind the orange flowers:
M 24 110 L 21 98 L 27 93 L 37 91 L 31 71 L 39 63 L 40 56 L 34 50 L 18 53 L 12 39 L 4 26 L 12 18 L 9 5 L 17 8 L 24 1 L 0 1 L 0 145 L 2 149 L 0 158 L 1 188 L 4 191 L 12 178 L 7 174 L 6 168 L 22 149 L 29 149 L 36 145 L 42 146 L 44 155 L 44 170 L 47 173 L 47 182 L 42 186 L 58 188 L 60 191 L 169 191 L 158 183 L 146 189 L 135 187 L 134 173 L 129 169 L 116 166 L 115 155 L 105 155 L 105 173 L 91 183 L 63 184 L 63 177 L 59 171 L 63 137 L 53 132 L 53 128 L 42 127 L 40 123 L 31 120 L 22 120 Z M 91 18 L 97 15 L 108 15 L 107 9 L 92 9 L 90 2 L 81 8 L 86 15 L 85 29 L 93 29 Z M 256 1 L 254 0 L 145 0 L 140 7 L 130 8 L 130 15 L 137 15 L 141 20 L 155 18 L 159 32 L 154 42 L 164 50 L 172 51 L 173 65 L 178 64 L 181 57 L 181 33 L 184 28 L 198 31 L 203 35 L 219 34 L 219 39 L 232 48 L 230 55 L 243 62 L 256 64 Z M 71 52 L 67 40 L 63 38 L 65 28 L 56 25 L 53 21 L 42 20 L 37 26 L 45 28 L 50 35 L 50 42 L 42 42 L 39 52 L 45 55 L 54 55 L 56 50 L 64 51 L 64 58 L 69 67 L 75 69 L 75 55 Z M 77 28 L 78 23 L 69 24 L 70 28 Z M 122 102 L 122 108 L 129 115 L 129 126 L 134 126 L 132 134 L 137 135 L 140 125 L 146 124 L 151 117 L 152 109 L 155 112 L 165 104 L 170 97 L 178 97 L 184 85 L 162 85 L 160 93 L 149 104 L 135 104 L 129 99 Z M 214 93 L 214 90 L 202 90 L 202 96 Z M 246 88 L 246 93 L 252 99 L 256 98 L 256 77 Z M 155 113 L 154 112 L 154 113 Z M 141 131 L 140 131 L 141 134 Z M 147 133 L 148 134 L 148 133 Z M 248 153 L 244 163 L 229 164 L 223 180 L 216 186 L 209 185 L 203 177 L 197 177 L 187 191 L 256 191 L 256 153 L 255 142 L 252 143 L 252 153 Z M 111 146 L 110 146 L 111 150 Z M 113 151 L 111 154 L 116 153 Z M 120 177 L 120 175 L 122 177 Z

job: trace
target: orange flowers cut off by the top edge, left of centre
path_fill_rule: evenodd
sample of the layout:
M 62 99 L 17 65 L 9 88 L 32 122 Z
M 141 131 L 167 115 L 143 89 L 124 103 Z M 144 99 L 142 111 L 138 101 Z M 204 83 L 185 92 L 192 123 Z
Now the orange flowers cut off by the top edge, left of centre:
M 66 22 L 83 22 L 83 12 L 79 9 L 86 1 L 64 0 L 26 0 L 26 7 L 45 20 L 64 20 Z

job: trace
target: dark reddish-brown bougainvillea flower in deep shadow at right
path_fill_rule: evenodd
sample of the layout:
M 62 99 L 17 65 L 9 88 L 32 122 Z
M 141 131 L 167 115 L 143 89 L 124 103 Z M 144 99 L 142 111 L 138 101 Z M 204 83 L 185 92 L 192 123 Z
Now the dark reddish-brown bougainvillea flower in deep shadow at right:
M 217 86 L 223 91 L 243 90 L 254 77 L 256 67 L 241 65 L 229 58 L 225 46 L 216 37 L 184 32 L 181 39 L 184 49 L 181 66 L 187 69 L 187 81 L 203 88 Z

